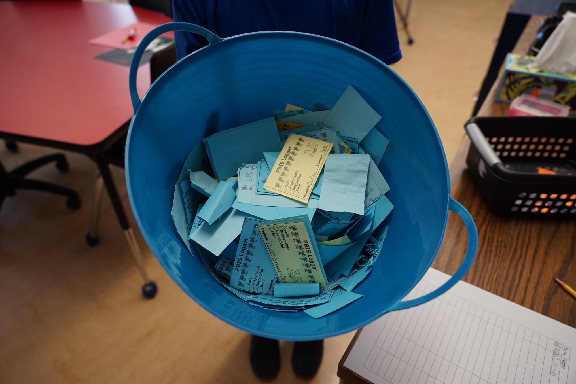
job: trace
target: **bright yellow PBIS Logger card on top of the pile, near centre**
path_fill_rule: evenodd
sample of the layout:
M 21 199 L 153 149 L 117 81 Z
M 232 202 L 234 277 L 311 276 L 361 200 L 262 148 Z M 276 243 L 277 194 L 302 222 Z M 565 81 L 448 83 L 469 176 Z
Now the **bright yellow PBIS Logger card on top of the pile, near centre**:
M 331 149 L 330 142 L 291 134 L 264 183 L 264 189 L 308 204 Z

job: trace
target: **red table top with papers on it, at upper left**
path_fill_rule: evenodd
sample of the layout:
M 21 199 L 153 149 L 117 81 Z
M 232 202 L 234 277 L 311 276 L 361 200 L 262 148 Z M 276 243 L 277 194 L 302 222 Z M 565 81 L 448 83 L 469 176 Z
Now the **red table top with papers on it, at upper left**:
M 127 4 L 0 1 L 0 131 L 74 145 L 103 141 L 132 116 L 129 67 L 95 59 L 89 39 L 169 17 Z M 142 96 L 149 65 L 138 71 Z

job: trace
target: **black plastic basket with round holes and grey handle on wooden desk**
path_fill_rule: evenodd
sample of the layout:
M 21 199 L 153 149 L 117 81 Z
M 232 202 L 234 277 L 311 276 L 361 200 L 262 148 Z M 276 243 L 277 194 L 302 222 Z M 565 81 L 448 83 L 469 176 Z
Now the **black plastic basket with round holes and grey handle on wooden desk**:
M 518 217 L 576 219 L 576 119 L 476 117 L 466 164 L 486 204 Z

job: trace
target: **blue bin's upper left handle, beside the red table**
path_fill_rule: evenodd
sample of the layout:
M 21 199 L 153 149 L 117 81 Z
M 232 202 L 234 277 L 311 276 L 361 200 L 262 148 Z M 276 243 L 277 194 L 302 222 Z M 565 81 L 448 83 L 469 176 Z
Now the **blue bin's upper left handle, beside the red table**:
M 138 97 L 138 89 L 136 88 L 136 74 L 138 73 L 138 66 L 140 64 L 140 60 L 142 59 L 142 55 L 144 54 L 146 47 L 152 42 L 152 40 L 156 39 L 156 37 L 162 35 L 163 33 L 172 31 L 186 31 L 186 32 L 198 33 L 198 35 L 206 37 L 206 39 L 208 40 L 208 44 L 215 44 L 223 40 L 222 37 L 214 35 L 214 33 L 210 32 L 208 29 L 200 27 L 199 25 L 190 24 L 189 22 L 168 22 L 166 24 L 159 25 L 158 27 L 148 32 L 146 36 L 144 36 L 142 41 L 138 44 L 138 47 L 134 52 L 134 56 L 132 57 L 132 62 L 130 63 L 128 88 L 130 88 L 130 98 L 132 99 L 132 107 L 134 107 L 134 114 L 136 114 L 138 108 L 140 107 L 140 104 L 142 103 L 142 100 L 140 100 L 140 97 Z

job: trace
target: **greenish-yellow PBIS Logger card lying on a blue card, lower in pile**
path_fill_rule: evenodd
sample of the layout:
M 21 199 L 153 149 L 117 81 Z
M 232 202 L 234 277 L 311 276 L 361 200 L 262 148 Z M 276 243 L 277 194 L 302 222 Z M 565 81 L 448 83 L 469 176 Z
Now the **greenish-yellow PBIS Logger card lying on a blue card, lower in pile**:
M 282 283 L 326 285 L 304 222 L 257 226 L 268 257 Z

